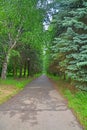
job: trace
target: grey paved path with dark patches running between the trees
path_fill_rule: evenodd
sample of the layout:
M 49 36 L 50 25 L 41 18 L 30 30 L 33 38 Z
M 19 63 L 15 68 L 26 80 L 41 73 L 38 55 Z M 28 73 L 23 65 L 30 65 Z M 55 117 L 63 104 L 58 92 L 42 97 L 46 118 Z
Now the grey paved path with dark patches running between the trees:
M 0 130 L 82 130 L 46 76 L 0 106 Z

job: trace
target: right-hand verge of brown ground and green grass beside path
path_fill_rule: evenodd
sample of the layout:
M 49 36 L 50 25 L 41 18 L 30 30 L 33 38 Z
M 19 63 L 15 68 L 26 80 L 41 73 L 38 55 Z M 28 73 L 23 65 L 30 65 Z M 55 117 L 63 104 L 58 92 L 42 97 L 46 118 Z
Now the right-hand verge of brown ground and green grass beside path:
M 56 81 L 58 90 L 68 100 L 68 107 L 74 111 L 84 130 L 87 130 L 87 92 L 75 89 L 70 83 L 60 80 L 58 77 L 49 77 Z

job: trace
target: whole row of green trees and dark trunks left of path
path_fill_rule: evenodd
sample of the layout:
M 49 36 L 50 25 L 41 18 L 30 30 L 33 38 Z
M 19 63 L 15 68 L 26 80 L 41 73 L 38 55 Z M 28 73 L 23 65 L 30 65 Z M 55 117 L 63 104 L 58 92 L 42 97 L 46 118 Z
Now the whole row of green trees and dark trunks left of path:
M 0 0 L 0 75 L 42 71 L 44 10 L 38 0 Z

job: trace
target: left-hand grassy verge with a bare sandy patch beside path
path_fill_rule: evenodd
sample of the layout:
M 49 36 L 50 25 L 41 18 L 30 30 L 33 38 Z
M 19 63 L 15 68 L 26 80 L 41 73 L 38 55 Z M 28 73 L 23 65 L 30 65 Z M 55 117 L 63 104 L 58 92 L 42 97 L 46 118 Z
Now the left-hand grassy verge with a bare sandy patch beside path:
M 29 82 L 39 77 L 40 74 L 36 74 L 33 77 L 13 79 L 7 78 L 6 80 L 0 79 L 0 104 L 4 103 L 12 96 L 21 91 Z

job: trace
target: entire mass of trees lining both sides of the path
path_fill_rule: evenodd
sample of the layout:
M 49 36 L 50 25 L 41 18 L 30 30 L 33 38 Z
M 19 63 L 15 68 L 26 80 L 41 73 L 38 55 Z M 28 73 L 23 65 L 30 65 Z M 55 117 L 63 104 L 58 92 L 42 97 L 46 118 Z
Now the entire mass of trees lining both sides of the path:
M 43 68 L 87 89 L 86 0 L 0 1 L 2 79 Z

